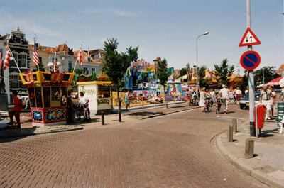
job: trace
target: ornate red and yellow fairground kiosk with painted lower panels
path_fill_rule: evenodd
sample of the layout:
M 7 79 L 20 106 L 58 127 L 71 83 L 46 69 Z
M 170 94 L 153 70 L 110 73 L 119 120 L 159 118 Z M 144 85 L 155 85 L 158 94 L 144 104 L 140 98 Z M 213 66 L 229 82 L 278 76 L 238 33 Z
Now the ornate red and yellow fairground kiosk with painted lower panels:
M 33 126 L 53 126 L 66 124 L 68 86 L 74 73 L 65 72 L 25 72 L 20 74 L 23 84 L 28 84 L 28 96 Z

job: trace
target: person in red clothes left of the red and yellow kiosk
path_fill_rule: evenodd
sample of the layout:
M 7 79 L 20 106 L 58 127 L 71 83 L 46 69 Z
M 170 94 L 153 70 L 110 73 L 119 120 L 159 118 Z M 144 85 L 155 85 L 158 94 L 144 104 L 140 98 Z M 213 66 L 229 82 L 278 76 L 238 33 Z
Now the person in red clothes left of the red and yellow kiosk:
M 18 94 L 17 91 L 15 91 L 15 90 L 12 91 L 13 104 L 15 104 L 15 106 L 13 106 L 13 109 L 11 109 L 8 112 L 9 118 L 10 118 L 10 122 L 7 123 L 7 124 L 8 125 L 13 125 L 13 116 L 15 116 L 16 121 L 18 123 L 18 126 L 16 128 L 21 128 L 20 113 L 22 111 L 22 105 L 21 105 L 20 99 L 18 99 L 17 94 Z

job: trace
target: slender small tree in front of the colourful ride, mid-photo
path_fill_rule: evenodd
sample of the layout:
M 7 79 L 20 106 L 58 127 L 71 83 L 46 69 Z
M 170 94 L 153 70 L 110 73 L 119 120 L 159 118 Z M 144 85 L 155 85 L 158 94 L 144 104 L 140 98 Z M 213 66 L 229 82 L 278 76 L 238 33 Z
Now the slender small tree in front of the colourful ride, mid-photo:
M 158 73 L 157 73 L 157 77 L 160 80 L 160 85 L 162 85 L 164 87 L 164 94 L 165 94 L 165 108 L 168 109 L 168 101 L 167 101 L 167 96 L 166 96 L 166 92 L 165 92 L 165 88 L 166 88 L 166 84 L 168 81 L 168 77 L 170 77 L 170 71 L 167 69 L 168 66 L 168 62 L 167 60 L 163 59 L 163 60 L 158 60 Z

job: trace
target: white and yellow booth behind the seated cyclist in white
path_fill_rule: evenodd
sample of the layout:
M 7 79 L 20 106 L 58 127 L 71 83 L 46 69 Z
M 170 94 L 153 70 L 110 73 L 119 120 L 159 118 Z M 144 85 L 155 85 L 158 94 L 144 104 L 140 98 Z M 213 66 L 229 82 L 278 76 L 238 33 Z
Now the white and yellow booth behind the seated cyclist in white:
M 84 96 L 89 99 L 90 115 L 111 114 L 111 81 L 107 81 L 107 75 L 101 74 L 97 81 L 77 82 L 79 92 L 84 92 Z

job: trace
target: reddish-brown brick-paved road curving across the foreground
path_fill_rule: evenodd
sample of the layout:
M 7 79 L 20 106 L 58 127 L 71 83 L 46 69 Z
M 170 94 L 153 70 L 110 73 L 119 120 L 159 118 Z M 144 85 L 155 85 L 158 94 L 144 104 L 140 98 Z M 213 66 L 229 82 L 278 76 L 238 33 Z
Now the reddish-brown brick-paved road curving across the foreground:
M 236 111 L 216 116 L 195 109 L 1 139 L 0 187 L 267 187 L 215 150 L 214 136 L 231 123 L 227 116 L 248 114 Z

